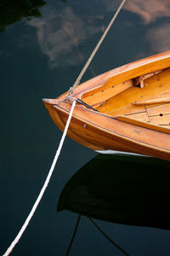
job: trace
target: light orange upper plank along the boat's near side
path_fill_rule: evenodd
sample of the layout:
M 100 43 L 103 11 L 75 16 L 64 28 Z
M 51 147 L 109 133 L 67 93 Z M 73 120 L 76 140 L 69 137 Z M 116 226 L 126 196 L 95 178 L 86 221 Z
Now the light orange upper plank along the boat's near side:
M 64 108 L 68 108 L 70 110 L 71 106 L 68 106 L 68 104 L 65 103 L 59 103 L 59 106 L 63 106 Z M 54 106 L 55 109 L 57 109 L 57 106 Z M 169 138 L 168 134 L 161 133 L 159 131 L 151 131 L 150 129 L 145 129 L 144 125 L 147 123 L 140 122 L 142 124 L 141 127 L 127 124 L 126 122 L 120 122 L 116 119 L 111 119 L 108 116 L 103 116 L 102 114 L 96 113 L 94 111 L 90 111 L 88 109 L 82 109 L 82 108 L 75 108 L 74 114 L 77 115 L 77 118 L 79 116 L 80 120 L 82 122 L 86 123 L 86 120 L 90 122 L 91 125 L 93 125 L 94 129 L 98 130 L 99 127 L 101 127 L 101 130 L 99 129 L 98 133 L 95 134 L 94 139 L 98 140 L 99 133 L 104 131 L 105 129 L 105 139 L 107 137 L 106 134 L 117 134 L 118 137 L 123 137 L 123 139 L 127 140 L 139 140 L 141 143 L 151 143 L 153 145 L 157 145 L 157 147 L 161 148 L 168 148 L 170 150 L 170 142 L 167 143 L 167 140 Z M 73 124 L 75 125 L 75 124 Z M 103 127 L 103 128 L 102 128 Z M 151 127 L 151 125 L 150 125 Z M 83 129 L 83 128 L 82 128 Z M 162 128 L 162 131 L 165 131 L 165 128 Z M 88 131 L 88 123 L 85 128 L 86 131 Z M 74 131 L 74 130 L 73 130 Z M 169 129 L 168 129 L 169 131 Z M 78 131 L 81 134 L 81 130 Z M 150 134 L 153 134 L 154 137 L 152 137 Z M 92 139 L 92 138 L 90 138 Z M 100 144 L 104 144 L 104 141 L 99 141 Z M 113 143 L 113 142 L 111 142 Z M 110 145 L 111 146 L 111 145 Z M 126 145 L 124 145 L 126 147 Z

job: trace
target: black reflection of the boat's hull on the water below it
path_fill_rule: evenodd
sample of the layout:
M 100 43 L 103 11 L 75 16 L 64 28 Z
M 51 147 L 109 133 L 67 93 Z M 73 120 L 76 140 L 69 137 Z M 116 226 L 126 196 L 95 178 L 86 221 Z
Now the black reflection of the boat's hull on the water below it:
M 169 195 L 168 161 L 99 154 L 66 183 L 57 210 L 117 224 L 170 230 Z

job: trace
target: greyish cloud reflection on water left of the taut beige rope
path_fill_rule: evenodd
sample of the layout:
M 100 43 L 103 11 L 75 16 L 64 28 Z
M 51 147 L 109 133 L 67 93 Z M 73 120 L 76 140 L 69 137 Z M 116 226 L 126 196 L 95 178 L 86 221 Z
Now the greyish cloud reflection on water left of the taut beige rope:
M 103 26 L 95 26 L 96 19 L 101 20 L 103 17 L 93 19 L 88 16 L 85 22 L 75 15 L 71 7 L 65 7 L 60 13 L 53 13 L 52 9 L 48 9 L 41 20 L 32 19 L 28 24 L 37 27 L 38 42 L 42 52 L 48 55 L 50 66 L 63 67 L 76 65 L 84 60 L 78 45 L 104 30 Z

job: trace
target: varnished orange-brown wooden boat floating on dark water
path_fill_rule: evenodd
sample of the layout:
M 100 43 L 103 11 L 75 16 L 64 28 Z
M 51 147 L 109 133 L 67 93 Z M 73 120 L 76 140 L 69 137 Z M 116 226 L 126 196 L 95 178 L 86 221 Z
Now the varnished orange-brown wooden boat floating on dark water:
M 71 110 L 71 99 L 65 102 L 67 95 L 43 99 L 61 131 Z M 90 79 L 77 86 L 72 97 L 82 100 L 77 102 L 68 131 L 77 143 L 98 151 L 170 160 L 170 51 Z

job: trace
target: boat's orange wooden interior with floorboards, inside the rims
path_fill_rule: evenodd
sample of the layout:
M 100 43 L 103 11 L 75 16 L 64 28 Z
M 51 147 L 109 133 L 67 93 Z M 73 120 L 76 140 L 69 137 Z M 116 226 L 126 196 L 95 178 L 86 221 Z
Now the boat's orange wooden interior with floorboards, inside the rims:
M 81 96 L 100 113 L 170 129 L 170 68 L 116 84 L 114 77 Z

